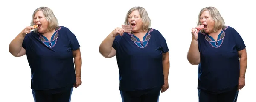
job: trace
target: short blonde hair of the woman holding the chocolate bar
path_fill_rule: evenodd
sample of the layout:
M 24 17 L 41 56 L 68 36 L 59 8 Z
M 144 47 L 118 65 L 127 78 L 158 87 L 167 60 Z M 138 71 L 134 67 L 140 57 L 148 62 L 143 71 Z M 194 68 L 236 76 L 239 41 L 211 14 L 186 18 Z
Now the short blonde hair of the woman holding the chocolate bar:
M 145 8 L 143 7 L 133 7 L 131 8 L 127 14 L 126 14 L 126 17 L 125 17 L 125 25 L 129 25 L 128 23 L 128 18 L 129 18 L 129 15 L 131 14 L 132 11 L 135 11 L 135 10 L 138 10 L 139 11 L 139 14 L 140 14 L 140 17 L 142 19 L 142 30 L 143 31 L 147 31 L 150 26 L 151 26 L 151 20 L 150 18 L 148 17 L 148 12 L 145 10 Z

